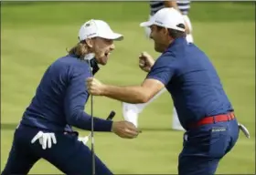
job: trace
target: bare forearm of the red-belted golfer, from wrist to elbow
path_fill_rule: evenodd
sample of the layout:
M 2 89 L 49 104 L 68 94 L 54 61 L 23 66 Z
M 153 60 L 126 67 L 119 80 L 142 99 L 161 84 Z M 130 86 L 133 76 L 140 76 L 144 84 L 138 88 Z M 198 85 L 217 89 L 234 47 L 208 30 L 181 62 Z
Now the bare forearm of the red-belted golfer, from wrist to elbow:
M 133 104 L 145 103 L 149 100 L 144 88 L 140 86 L 117 87 L 105 85 L 102 96 Z

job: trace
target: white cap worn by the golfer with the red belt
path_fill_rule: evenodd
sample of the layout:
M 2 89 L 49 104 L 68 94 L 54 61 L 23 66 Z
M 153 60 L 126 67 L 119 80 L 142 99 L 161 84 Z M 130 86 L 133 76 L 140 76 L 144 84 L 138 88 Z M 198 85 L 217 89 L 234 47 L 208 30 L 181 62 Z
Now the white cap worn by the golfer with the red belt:
M 157 11 L 149 21 L 141 23 L 140 26 L 156 25 L 185 32 L 185 28 L 177 26 L 179 24 L 185 25 L 183 15 L 173 7 L 165 7 Z

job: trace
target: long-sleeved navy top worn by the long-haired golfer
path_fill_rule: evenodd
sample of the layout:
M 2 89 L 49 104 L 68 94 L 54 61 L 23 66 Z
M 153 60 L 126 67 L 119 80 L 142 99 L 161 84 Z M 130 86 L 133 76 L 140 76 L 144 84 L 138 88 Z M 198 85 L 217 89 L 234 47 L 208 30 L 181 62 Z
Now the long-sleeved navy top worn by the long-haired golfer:
M 91 130 L 91 115 L 84 111 L 91 77 L 88 62 L 68 55 L 51 64 L 42 77 L 21 124 L 49 131 Z M 94 118 L 95 131 L 111 131 L 112 121 Z

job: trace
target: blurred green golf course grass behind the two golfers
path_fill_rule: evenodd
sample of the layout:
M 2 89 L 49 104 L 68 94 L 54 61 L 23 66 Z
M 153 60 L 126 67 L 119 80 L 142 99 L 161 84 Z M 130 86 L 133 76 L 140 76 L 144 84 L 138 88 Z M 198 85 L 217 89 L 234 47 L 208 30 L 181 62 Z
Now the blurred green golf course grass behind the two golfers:
M 142 51 L 159 55 L 139 27 L 148 14 L 148 2 L 1 2 L 1 171 L 14 129 L 45 69 L 78 42 L 85 21 L 106 20 L 125 36 L 96 77 L 115 85 L 142 82 L 145 73 L 137 67 L 138 55 Z M 220 161 L 219 174 L 255 174 L 254 16 L 253 2 L 192 2 L 189 12 L 195 43 L 211 58 L 237 118 L 251 131 L 251 139 L 240 134 L 236 147 Z M 112 109 L 117 111 L 115 120 L 123 118 L 119 101 L 95 98 L 94 108 L 101 118 Z M 143 133 L 138 139 L 97 133 L 96 153 L 116 174 L 176 174 L 183 132 L 171 130 L 172 110 L 172 100 L 165 93 L 141 114 Z M 88 133 L 80 130 L 80 135 Z M 60 172 L 39 160 L 30 173 Z

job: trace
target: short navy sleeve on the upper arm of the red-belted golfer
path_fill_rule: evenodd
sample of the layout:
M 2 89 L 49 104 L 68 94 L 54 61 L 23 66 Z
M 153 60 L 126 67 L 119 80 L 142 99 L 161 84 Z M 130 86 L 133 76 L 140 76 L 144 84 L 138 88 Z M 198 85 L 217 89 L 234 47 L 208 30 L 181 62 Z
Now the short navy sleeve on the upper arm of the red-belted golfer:
M 165 86 L 176 74 L 178 62 L 170 52 L 163 54 L 156 61 L 146 78 L 153 78 L 161 81 Z

